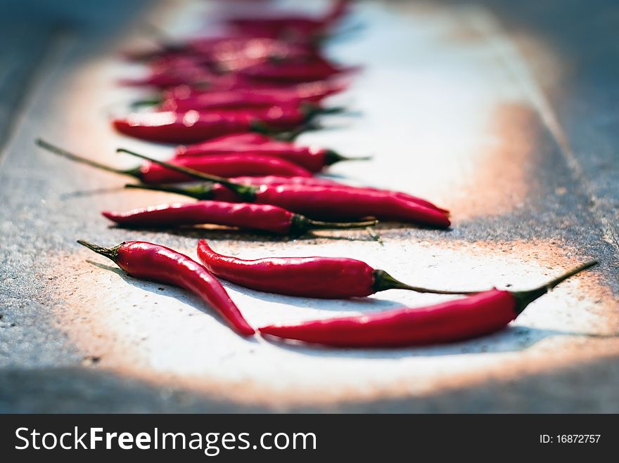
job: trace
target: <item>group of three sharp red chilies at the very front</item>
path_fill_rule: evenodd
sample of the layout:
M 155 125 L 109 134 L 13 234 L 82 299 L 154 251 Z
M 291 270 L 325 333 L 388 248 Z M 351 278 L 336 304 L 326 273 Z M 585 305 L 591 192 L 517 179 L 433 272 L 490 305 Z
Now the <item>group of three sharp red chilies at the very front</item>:
M 255 330 L 213 275 L 261 291 L 327 299 L 368 296 L 385 289 L 458 294 L 405 285 L 383 270 L 355 259 L 280 257 L 245 261 L 217 254 L 207 242 L 200 240 L 198 257 L 203 262 L 200 265 L 159 244 L 129 241 L 104 248 L 82 240 L 79 243 L 112 259 L 136 278 L 167 282 L 197 294 L 243 336 L 250 336 Z M 371 315 L 290 325 L 267 325 L 258 330 L 273 337 L 338 347 L 392 347 L 461 341 L 502 330 L 532 301 L 596 263 L 584 263 L 528 291 L 489 289 L 432 306 L 395 308 Z

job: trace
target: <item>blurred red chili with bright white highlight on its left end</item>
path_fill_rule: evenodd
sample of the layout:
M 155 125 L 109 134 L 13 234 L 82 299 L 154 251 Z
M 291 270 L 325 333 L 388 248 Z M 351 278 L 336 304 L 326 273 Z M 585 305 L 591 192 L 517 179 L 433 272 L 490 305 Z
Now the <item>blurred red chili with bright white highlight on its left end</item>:
M 300 110 L 272 107 L 255 111 L 151 112 L 114 119 L 117 131 L 142 140 L 161 143 L 196 143 L 215 136 L 252 131 L 257 126 L 291 130 L 307 122 Z

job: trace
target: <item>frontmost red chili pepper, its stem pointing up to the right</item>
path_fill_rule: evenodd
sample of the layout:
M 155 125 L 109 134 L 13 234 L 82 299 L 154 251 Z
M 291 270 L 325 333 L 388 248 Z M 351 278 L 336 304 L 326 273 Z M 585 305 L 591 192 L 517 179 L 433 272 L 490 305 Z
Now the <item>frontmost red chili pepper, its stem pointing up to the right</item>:
M 491 289 L 428 307 L 269 325 L 258 330 L 271 336 L 336 347 L 395 347 L 461 341 L 504 329 L 532 301 L 596 263 L 589 261 L 530 291 Z

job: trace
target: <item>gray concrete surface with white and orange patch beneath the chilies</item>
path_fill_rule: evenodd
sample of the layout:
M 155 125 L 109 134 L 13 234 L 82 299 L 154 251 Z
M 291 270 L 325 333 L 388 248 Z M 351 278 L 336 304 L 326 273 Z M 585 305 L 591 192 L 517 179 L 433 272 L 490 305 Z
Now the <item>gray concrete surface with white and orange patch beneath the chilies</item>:
M 117 52 L 143 43 L 146 22 L 170 34 L 191 29 L 203 6 L 35 2 L 38 13 L 25 15 L 28 3 L 9 3 L 11 37 L 28 31 L 30 40 L 23 53 L 1 51 L 14 67 L 0 79 L 0 411 L 619 412 L 612 2 L 359 6 L 365 30 L 330 53 L 366 65 L 342 97 L 364 115 L 332 119 L 340 129 L 302 141 L 374 152 L 374 162 L 333 174 L 454 213 L 449 232 L 382 224 L 384 247 L 356 232 L 286 240 L 109 228 L 101 209 L 179 198 L 124 192 L 122 179 L 51 157 L 32 140 L 127 166 L 132 159 L 112 154 L 119 145 L 165 155 L 107 124 L 137 95 L 114 85 L 140 72 Z M 359 257 L 434 286 L 525 288 L 592 256 L 601 265 L 492 337 L 333 351 L 238 339 L 191 296 L 109 271 L 75 244 L 143 239 L 193 254 L 198 236 L 248 258 Z M 435 300 L 389 292 L 317 301 L 226 287 L 256 325 Z

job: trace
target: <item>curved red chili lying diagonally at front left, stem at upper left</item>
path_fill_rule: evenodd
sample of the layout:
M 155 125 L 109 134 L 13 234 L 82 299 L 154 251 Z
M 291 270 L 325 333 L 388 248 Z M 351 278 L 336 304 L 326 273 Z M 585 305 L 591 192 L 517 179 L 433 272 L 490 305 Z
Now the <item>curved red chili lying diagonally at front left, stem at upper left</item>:
M 77 240 L 79 244 L 108 257 L 135 278 L 156 280 L 188 289 L 215 308 L 242 336 L 255 333 L 221 283 L 203 265 L 188 256 L 144 241 L 126 241 L 106 248 Z

